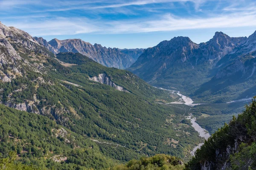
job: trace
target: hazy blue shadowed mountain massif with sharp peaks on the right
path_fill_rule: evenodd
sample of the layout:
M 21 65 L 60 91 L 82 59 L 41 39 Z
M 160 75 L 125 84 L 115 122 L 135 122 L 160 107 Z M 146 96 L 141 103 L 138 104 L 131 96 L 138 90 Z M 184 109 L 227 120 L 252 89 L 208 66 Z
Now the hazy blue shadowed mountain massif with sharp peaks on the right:
M 145 49 L 127 70 L 152 85 L 185 91 L 198 101 L 228 102 L 256 92 L 255 51 L 256 33 L 247 38 L 216 32 L 200 44 L 174 37 Z

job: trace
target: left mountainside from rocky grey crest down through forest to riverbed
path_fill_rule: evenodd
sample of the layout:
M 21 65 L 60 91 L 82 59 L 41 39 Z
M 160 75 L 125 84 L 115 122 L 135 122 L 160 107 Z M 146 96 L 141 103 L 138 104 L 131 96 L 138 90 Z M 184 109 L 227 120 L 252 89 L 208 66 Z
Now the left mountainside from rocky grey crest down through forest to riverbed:
M 47 168 L 69 169 L 74 163 L 103 169 L 157 153 L 188 159 L 202 142 L 188 122 L 181 123 L 183 111 L 155 103 L 173 102 L 169 93 L 129 71 L 107 68 L 79 53 L 55 56 L 26 32 L 1 23 L 0 51 L 0 102 L 29 112 L 5 114 L 3 109 L 0 144 L 5 158 L 16 150 L 19 161 L 35 167 L 48 162 Z M 57 136 L 55 130 L 61 128 L 74 135 Z M 53 165 L 58 160 L 63 161 Z

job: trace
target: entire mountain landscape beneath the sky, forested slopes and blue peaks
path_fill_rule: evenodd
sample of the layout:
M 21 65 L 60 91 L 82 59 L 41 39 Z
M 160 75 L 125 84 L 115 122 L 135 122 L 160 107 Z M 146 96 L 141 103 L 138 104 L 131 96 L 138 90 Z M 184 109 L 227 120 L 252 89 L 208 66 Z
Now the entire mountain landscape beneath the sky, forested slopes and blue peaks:
M 0 168 L 255 169 L 255 98 L 205 142 L 188 120 L 212 125 L 215 112 L 223 119 L 241 105 L 232 100 L 253 96 L 255 47 L 256 33 L 216 32 L 200 44 L 175 37 L 145 50 L 105 48 L 0 23 Z M 128 67 L 124 56 L 138 59 L 129 71 L 112 68 Z M 183 92 L 204 105 L 179 103 Z

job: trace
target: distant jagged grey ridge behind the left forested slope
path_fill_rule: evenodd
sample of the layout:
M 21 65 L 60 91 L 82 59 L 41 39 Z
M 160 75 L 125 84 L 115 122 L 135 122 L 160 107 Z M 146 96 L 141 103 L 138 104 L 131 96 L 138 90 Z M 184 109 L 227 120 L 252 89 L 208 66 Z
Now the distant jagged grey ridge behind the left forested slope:
M 60 52 L 80 53 L 102 65 L 119 69 L 130 67 L 143 51 L 142 49 L 119 50 L 118 48 L 106 48 L 100 44 L 92 45 L 81 39 L 58 40 L 55 38 L 47 42 L 42 37 L 34 38 L 54 54 Z

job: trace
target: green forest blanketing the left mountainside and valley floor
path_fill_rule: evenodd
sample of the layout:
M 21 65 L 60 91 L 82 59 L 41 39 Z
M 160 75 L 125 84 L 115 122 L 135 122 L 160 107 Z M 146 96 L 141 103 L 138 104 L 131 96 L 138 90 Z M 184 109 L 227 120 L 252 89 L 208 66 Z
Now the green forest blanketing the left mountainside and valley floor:
M 179 97 L 129 71 L 79 53 L 55 56 L 30 41 L 33 48 L 27 48 L 15 37 L 8 41 L 21 59 L 1 65 L 10 77 L 0 82 L 1 169 L 197 170 L 208 160 L 214 168 L 222 166 L 216 148 L 233 169 L 255 169 L 254 161 L 246 162 L 255 156 L 255 100 L 215 132 L 243 105 L 168 105 Z M 91 79 L 99 74 L 125 91 Z M 186 119 L 189 113 L 212 133 L 193 158 L 191 150 L 204 139 Z M 228 155 L 230 147 L 238 152 Z

